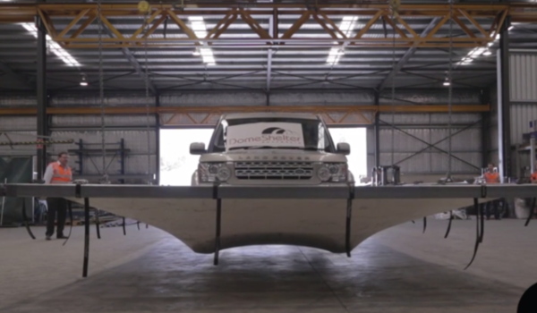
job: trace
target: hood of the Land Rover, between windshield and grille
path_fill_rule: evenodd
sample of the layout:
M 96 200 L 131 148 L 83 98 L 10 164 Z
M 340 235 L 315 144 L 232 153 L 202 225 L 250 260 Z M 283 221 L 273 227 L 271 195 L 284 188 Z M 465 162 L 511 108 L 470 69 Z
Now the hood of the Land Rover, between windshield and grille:
M 343 155 L 322 151 L 307 151 L 285 148 L 238 149 L 228 152 L 209 153 L 200 157 L 200 162 L 237 161 L 298 161 L 346 163 Z

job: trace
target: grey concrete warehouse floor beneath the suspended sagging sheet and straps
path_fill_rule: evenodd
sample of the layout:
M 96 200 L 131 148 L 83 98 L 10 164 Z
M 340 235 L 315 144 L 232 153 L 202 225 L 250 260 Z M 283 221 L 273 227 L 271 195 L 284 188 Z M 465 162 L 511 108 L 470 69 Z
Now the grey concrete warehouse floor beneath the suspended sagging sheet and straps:
M 156 228 L 91 228 L 90 276 L 81 278 L 83 227 L 45 241 L 34 227 L 0 229 L 0 312 L 515 312 L 537 283 L 537 221 L 487 221 L 473 253 L 474 221 L 429 219 L 378 233 L 353 258 L 271 246 L 192 253 Z

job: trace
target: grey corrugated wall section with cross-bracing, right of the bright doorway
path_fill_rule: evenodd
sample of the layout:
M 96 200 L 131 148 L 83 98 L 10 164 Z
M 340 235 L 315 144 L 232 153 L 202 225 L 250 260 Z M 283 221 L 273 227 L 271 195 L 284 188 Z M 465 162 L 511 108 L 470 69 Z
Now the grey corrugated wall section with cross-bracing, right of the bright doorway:
M 451 130 L 452 173 L 479 173 L 482 166 L 481 114 L 381 114 L 380 164 L 399 165 L 402 173 L 447 173 Z M 393 143 L 393 145 L 392 145 Z M 433 145 L 436 148 L 432 148 Z M 476 168 L 478 167 L 478 168 Z

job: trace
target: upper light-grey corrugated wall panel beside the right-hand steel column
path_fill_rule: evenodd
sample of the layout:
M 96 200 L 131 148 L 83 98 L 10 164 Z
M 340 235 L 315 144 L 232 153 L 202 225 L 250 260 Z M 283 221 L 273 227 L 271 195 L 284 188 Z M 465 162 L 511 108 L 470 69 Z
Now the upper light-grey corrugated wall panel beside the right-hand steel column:
M 511 101 L 537 102 L 537 51 L 511 52 L 509 67 Z

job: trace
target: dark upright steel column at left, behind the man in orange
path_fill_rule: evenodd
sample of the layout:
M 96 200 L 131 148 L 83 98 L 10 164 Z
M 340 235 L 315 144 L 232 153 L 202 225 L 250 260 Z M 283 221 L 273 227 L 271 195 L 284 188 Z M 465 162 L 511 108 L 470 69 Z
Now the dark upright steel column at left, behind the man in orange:
M 48 136 L 47 125 L 47 31 L 40 17 L 36 18 L 38 28 L 37 49 L 37 100 L 38 136 Z M 39 137 L 43 139 L 43 137 Z M 41 181 L 47 167 L 47 145 L 38 146 L 38 181 Z

